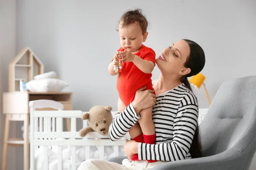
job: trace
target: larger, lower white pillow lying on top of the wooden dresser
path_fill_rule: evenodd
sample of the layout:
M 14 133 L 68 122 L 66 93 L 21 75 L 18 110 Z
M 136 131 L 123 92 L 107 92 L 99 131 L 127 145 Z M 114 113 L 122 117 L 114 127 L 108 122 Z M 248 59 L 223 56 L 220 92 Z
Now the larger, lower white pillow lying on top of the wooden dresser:
M 68 84 L 61 79 L 34 79 L 26 83 L 26 89 L 31 92 L 61 91 Z

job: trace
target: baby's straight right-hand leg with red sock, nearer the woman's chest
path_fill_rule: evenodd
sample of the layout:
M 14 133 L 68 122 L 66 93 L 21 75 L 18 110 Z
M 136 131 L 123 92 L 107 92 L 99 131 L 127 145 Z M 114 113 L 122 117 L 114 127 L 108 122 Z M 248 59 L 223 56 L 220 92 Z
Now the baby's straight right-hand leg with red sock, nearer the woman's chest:
M 152 120 L 152 108 L 144 109 L 140 112 L 139 119 L 140 127 L 143 132 L 144 142 L 147 144 L 155 144 L 156 132 L 154 122 Z M 148 162 L 155 162 L 156 160 L 148 160 Z

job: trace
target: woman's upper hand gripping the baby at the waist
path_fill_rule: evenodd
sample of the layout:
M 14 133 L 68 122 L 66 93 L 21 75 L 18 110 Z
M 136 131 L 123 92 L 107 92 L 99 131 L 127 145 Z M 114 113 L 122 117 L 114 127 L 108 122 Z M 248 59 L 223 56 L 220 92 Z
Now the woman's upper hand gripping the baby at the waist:
M 137 115 L 142 111 L 143 109 L 150 108 L 154 106 L 156 103 L 156 95 L 154 95 L 153 90 L 145 90 L 146 87 L 140 88 L 136 91 L 134 101 L 132 102 L 132 105 L 134 107 L 134 110 L 136 111 Z

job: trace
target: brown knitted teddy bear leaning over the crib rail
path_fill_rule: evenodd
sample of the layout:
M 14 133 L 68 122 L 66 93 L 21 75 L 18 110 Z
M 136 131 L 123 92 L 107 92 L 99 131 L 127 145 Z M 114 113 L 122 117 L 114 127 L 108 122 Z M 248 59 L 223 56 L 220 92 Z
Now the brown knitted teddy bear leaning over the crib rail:
M 113 119 L 111 106 L 94 106 L 89 113 L 82 115 L 82 119 L 88 119 L 89 126 L 79 130 L 79 135 L 84 137 L 89 132 L 96 131 L 101 135 L 108 134 L 109 125 Z

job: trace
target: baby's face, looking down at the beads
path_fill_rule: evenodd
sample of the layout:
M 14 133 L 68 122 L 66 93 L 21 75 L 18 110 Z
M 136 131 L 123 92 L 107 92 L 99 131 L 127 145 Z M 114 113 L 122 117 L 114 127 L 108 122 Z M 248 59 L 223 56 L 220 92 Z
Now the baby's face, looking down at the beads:
M 143 35 L 142 29 L 138 23 L 132 23 L 126 27 L 119 25 L 120 44 L 122 48 L 129 52 L 138 51 L 145 42 L 146 35 Z

